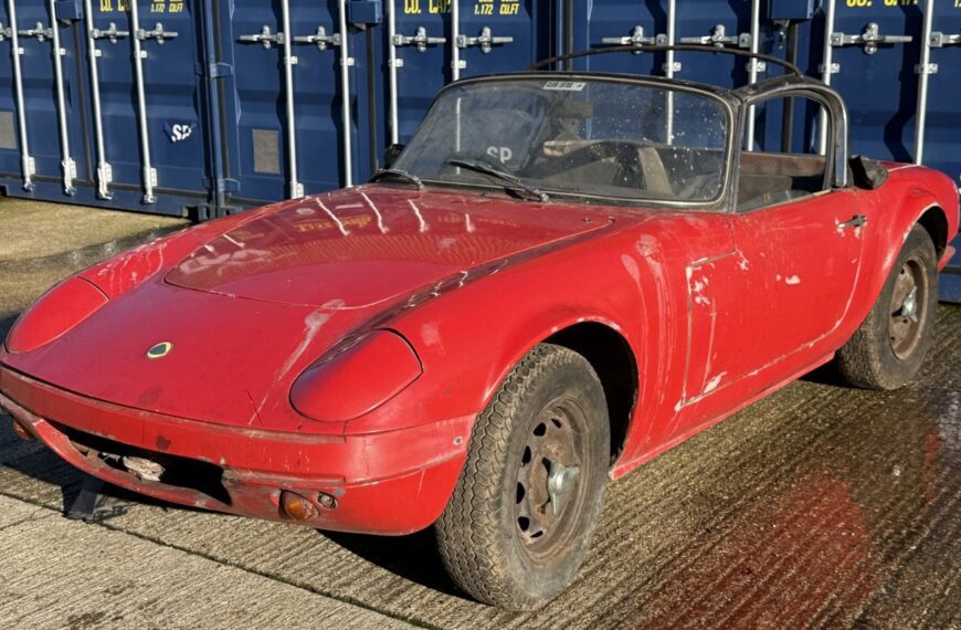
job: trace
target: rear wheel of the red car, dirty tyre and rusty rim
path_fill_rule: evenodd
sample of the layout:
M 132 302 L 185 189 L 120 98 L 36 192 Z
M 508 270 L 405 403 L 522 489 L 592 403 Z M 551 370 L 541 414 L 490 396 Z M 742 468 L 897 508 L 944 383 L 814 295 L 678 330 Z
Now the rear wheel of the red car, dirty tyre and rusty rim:
M 909 382 L 931 346 L 937 308 L 934 244 L 915 225 L 867 318 L 837 353 L 841 374 L 868 389 Z

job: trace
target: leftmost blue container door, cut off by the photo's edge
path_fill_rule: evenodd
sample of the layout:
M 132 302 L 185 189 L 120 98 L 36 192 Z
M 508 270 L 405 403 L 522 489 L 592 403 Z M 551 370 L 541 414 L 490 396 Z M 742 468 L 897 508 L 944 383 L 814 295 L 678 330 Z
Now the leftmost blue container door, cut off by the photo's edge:
M 8 193 L 70 200 L 86 176 L 72 15 L 51 0 L 0 8 L 0 171 Z

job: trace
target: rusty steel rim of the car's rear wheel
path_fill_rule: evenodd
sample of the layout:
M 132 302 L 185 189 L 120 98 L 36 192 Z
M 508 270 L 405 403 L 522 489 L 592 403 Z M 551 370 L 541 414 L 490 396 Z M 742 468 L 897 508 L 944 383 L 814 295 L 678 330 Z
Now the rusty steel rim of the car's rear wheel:
M 895 356 L 908 358 L 921 340 L 928 314 L 928 276 L 917 259 L 908 259 L 898 271 L 888 308 L 888 335 Z

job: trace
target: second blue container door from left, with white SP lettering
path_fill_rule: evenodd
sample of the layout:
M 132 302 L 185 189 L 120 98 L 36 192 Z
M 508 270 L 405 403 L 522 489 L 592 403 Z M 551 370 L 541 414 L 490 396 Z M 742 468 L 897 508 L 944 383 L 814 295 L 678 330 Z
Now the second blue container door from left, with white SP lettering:
M 190 2 L 86 0 L 92 159 L 106 204 L 181 213 L 207 202 L 197 74 L 199 28 Z M 188 201 L 187 204 L 190 202 Z

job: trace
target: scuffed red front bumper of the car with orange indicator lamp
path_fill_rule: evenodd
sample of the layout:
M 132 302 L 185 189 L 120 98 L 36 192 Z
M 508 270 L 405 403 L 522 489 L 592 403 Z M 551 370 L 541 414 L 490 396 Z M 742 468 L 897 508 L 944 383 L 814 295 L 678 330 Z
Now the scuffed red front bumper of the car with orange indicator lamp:
M 85 398 L 0 366 L 0 407 L 57 455 L 98 479 L 162 501 L 291 521 L 282 491 L 315 503 L 295 523 L 400 535 L 443 512 L 466 456 L 474 417 L 366 435 L 307 435 L 224 427 Z M 165 465 L 159 481 L 123 456 Z M 336 497 L 336 507 L 319 496 Z

